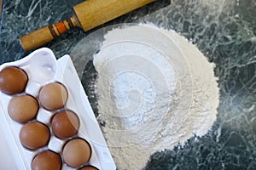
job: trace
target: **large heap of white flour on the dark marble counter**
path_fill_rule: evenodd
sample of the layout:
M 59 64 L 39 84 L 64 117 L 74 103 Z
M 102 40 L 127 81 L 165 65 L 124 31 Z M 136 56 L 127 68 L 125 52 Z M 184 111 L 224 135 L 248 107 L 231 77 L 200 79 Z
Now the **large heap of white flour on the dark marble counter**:
M 94 65 L 98 119 L 119 169 L 143 169 L 154 152 L 206 134 L 216 120 L 214 65 L 175 31 L 109 31 Z

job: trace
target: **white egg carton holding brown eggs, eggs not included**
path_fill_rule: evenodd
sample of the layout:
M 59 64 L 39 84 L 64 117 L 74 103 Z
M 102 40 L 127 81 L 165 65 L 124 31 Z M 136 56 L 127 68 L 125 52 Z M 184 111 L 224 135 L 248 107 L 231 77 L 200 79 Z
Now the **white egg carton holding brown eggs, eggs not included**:
M 88 164 L 100 170 L 115 170 L 113 157 L 108 150 L 108 145 L 102 135 L 102 131 L 96 121 L 96 117 L 90 107 L 90 103 L 84 93 L 77 71 L 69 55 L 64 55 L 56 60 L 49 48 L 40 48 L 23 59 L 0 65 L 0 71 L 7 66 L 17 66 L 26 71 L 28 82 L 25 94 L 31 94 L 38 99 L 38 92 L 49 82 L 61 82 L 68 91 L 68 99 L 65 108 L 74 111 L 79 116 L 80 126 L 78 136 L 87 140 L 91 146 L 91 157 Z M 14 156 L 15 164 L 19 169 L 31 169 L 32 158 L 42 150 L 54 150 L 61 153 L 66 140 L 56 138 L 52 133 L 49 144 L 38 150 L 27 150 L 20 144 L 19 133 L 22 124 L 14 122 L 8 114 L 7 108 L 12 95 L 0 92 L 0 127 L 9 143 L 8 147 Z M 45 110 L 42 106 L 36 117 L 38 122 L 50 124 L 55 111 Z M 63 170 L 75 169 L 63 164 Z

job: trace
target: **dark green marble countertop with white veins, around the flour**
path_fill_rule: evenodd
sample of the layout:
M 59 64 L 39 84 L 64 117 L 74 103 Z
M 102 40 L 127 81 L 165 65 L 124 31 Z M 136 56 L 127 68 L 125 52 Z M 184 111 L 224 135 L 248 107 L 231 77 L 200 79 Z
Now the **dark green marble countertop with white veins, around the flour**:
M 20 48 L 21 35 L 67 19 L 80 2 L 3 0 L 0 64 L 28 54 Z M 220 104 L 212 130 L 182 149 L 155 153 L 146 169 L 256 169 L 255 19 L 255 0 L 159 0 L 104 25 L 151 21 L 187 37 L 216 64 Z M 88 33 L 77 28 L 45 47 L 60 58 Z

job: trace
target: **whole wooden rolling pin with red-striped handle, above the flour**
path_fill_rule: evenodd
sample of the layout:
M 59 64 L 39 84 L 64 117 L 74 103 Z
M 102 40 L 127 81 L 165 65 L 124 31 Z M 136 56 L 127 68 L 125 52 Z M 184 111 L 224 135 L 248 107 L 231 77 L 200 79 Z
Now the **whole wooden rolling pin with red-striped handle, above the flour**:
M 51 26 L 45 26 L 20 37 L 20 44 L 26 51 L 38 48 L 74 26 L 89 31 L 134 9 L 155 0 L 86 0 L 73 7 L 71 18 Z

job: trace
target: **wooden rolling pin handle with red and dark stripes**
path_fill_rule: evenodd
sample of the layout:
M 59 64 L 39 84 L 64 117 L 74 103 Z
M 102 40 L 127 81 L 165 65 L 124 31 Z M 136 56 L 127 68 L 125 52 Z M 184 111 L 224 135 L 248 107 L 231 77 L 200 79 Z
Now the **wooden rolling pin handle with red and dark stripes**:
M 79 22 L 74 15 L 70 19 L 63 20 L 51 26 L 44 26 L 36 31 L 32 31 L 23 37 L 20 37 L 20 44 L 26 51 L 39 48 L 55 37 L 60 36 L 74 26 L 79 26 Z

